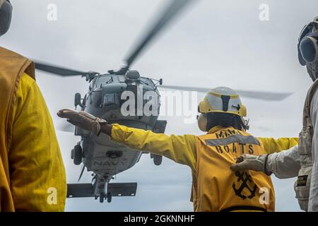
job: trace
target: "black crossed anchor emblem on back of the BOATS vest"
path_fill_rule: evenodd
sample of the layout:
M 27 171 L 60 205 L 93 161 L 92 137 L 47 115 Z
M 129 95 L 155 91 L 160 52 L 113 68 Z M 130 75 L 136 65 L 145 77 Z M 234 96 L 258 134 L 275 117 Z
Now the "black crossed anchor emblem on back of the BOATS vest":
M 233 182 L 232 188 L 235 191 L 235 194 L 237 196 L 239 196 L 240 198 L 242 198 L 243 200 L 245 198 L 249 198 L 249 199 L 253 198 L 256 194 L 256 191 L 257 191 L 257 185 L 252 182 L 251 175 L 249 175 L 247 172 L 241 173 L 241 172 L 237 171 L 237 172 L 235 172 L 235 176 L 237 177 L 237 182 L 242 181 L 242 184 L 238 189 L 235 186 L 235 182 Z M 254 184 L 253 188 L 249 187 L 248 183 Z M 249 196 L 245 196 L 244 194 L 242 194 L 242 191 L 244 191 L 244 189 L 247 189 L 249 191 L 249 193 L 250 193 Z

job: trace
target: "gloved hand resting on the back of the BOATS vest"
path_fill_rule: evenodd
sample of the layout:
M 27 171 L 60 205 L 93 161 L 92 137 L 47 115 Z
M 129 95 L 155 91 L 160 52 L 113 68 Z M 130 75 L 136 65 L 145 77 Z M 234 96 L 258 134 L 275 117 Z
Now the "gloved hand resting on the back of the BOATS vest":
M 271 175 L 271 172 L 268 172 L 267 159 L 269 155 L 241 155 L 237 158 L 235 165 L 231 165 L 230 169 L 233 171 L 243 171 L 251 169 L 254 171 L 264 172 L 266 175 Z

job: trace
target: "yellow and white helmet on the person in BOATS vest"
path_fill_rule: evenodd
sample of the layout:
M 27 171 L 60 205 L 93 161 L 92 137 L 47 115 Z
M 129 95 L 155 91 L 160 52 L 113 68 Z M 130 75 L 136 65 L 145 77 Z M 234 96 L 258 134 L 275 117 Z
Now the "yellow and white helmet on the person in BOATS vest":
M 221 112 L 246 117 L 246 107 L 242 105 L 240 96 L 227 87 L 213 88 L 204 100 L 199 103 L 200 113 Z

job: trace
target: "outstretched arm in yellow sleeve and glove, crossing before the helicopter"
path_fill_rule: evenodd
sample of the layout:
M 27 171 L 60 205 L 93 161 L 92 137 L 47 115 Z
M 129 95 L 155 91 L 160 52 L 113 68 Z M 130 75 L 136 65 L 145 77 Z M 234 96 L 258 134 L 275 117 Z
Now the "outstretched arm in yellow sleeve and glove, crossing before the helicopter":
M 134 150 L 146 150 L 156 155 L 163 155 L 175 162 L 188 165 L 195 170 L 196 148 L 194 135 L 167 136 L 164 133 L 153 133 L 143 129 L 135 129 L 119 124 L 107 124 L 105 120 L 98 119 L 86 112 L 74 112 L 63 109 L 57 113 L 59 117 L 66 118 L 71 124 L 92 131 L 98 136 L 105 133 L 113 141 L 123 143 Z

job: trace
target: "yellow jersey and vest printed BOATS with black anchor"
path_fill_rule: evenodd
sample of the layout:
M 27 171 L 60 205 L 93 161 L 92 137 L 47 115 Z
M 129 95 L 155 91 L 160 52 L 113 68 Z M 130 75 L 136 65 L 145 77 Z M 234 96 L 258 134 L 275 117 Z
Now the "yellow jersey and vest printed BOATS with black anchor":
M 129 148 L 147 150 L 191 167 L 195 211 L 274 211 L 271 177 L 252 170 L 232 172 L 230 166 L 242 154 L 263 155 L 298 143 L 297 138 L 255 138 L 220 126 L 202 136 L 167 136 L 113 124 L 111 136 Z

